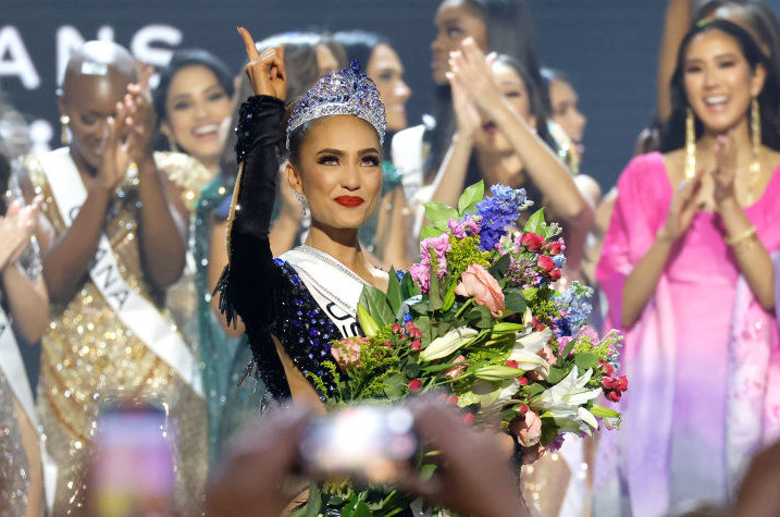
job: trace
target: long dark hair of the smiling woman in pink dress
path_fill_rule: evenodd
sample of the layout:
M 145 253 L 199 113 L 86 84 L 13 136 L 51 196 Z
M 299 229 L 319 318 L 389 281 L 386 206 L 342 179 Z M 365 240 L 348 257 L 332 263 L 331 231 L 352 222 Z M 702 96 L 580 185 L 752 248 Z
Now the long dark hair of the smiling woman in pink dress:
M 767 59 L 766 54 L 758 48 L 756 41 L 741 26 L 726 20 L 714 20 L 702 22 L 693 26 L 680 44 L 677 57 L 677 66 L 671 78 L 671 106 L 672 114 L 666 123 L 661 135 L 660 151 L 669 152 L 685 145 L 685 116 L 689 108 L 684 86 L 684 61 L 688 48 L 693 38 L 709 30 L 720 30 L 734 38 L 740 50 L 747 61 L 751 70 L 762 65 L 766 70 L 764 88 L 758 94 L 762 116 L 762 140 L 764 145 L 780 150 L 780 85 L 778 85 L 778 70 L 773 61 Z M 696 118 L 696 138 L 704 131 L 702 122 Z

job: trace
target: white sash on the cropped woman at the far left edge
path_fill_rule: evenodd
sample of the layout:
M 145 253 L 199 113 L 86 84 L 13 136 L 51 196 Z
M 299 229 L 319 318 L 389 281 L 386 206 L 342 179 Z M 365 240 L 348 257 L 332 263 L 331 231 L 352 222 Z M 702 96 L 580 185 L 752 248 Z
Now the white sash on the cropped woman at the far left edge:
M 40 424 L 38 414 L 35 411 L 35 398 L 27 378 L 27 370 L 24 368 L 24 359 L 22 359 L 16 337 L 13 335 L 11 321 L 5 316 L 2 307 L 0 307 L 0 371 L 5 376 L 11 391 L 38 435 L 40 458 L 44 466 L 44 493 L 46 494 L 46 504 L 51 512 L 57 487 L 57 465 L 47 454 L 44 441 L 40 440 Z

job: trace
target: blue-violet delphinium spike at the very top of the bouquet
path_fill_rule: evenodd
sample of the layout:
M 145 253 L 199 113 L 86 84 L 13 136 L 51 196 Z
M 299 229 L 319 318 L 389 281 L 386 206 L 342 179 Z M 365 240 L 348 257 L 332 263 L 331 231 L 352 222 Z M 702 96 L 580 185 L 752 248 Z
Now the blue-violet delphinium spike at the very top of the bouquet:
M 493 185 L 493 196 L 476 205 L 482 217 L 480 227 L 480 248 L 493 251 L 500 238 L 507 234 L 507 226 L 517 224 L 520 212 L 525 206 L 525 190 L 505 185 Z

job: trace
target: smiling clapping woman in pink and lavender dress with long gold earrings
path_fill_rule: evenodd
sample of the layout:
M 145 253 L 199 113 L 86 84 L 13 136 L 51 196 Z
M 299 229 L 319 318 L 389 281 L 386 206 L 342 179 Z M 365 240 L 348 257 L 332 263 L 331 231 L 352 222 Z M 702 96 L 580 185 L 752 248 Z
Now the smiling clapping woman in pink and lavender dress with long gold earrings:
M 629 393 L 621 431 L 602 436 L 596 515 L 725 504 L 780 429 L 777 81 L 743 28 L 696 25 L 664 153 L 618 181 L 596 276 L 626 332 Z

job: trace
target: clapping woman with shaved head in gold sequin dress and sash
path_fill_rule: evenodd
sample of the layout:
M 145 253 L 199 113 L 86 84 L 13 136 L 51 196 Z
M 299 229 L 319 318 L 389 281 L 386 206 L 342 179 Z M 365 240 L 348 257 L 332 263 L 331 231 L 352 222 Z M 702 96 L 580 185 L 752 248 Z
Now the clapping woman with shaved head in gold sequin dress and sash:
M 132 398 L 168 411 L 175 503 L 195 515 L 206 476 L 202 385 L 196 353 L 160 310 L 184 267 L 194 159 L 152 153 L 146 81 L 117 45 L 74 52 L 58 104 L 72 145 L 20 168 L 25 197 L 44 197 L 49 226 L 38 232 L 54 304 L 38 406 L 59 467 L 54 514 L 84 510 L 98 411 Z

